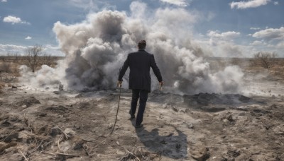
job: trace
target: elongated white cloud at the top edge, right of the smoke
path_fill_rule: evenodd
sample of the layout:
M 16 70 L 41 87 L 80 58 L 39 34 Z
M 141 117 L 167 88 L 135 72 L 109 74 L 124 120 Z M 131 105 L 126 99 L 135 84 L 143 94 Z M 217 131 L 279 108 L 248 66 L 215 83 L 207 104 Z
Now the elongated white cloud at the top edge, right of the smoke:
M 249 1 L 238 1 L 231 2 L 229 5 L 231 8 L 245 9 L 245 8 L 256 8 L 268 4 L 271 0 L 249 0 Z

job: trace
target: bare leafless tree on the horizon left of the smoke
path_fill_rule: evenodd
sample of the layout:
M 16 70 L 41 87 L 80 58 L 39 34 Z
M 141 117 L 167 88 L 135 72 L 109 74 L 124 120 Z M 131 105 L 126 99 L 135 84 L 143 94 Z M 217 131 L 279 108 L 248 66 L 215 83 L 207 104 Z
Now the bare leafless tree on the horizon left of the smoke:
M 26 52 L 26 63 L 35 72 L 35 68 L 39 65 L 38 56 L 43 54 L 43 47 L 35 44 L 33 47 L 28 47 Z

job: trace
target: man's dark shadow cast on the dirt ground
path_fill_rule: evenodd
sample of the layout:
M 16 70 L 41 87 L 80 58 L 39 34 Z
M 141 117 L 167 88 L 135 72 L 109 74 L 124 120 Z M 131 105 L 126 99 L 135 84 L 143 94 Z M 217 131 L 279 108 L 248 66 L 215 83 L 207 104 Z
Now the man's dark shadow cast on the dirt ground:
M 131 122 L 135 124 L 135 120 Z M 187 157 L 187 136 L 185 133 L 175 128 L 178 135 L 170 133 L 168 136 L 160 136 L 158 131 L 158 129 L 147 131 L 144 126 L 136 129 L 138 138 L 149 151 L 172 159 Z

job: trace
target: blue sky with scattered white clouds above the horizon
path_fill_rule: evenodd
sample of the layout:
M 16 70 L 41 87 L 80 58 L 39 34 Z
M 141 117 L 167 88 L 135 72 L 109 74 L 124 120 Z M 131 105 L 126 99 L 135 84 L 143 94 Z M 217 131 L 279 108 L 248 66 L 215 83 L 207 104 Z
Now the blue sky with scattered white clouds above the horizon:
M 251 57 L 257 52 L 275 52 L 279 57 L 284 57 L 284 1 L 140 2 L 147 6 L 150 13 L 159 8 L 188 11 L 191 16 L 182 20 L 192 21 L 192 25 L 188 26 L 192 43 L 199 45 L 210 56 Z M 82 23 L 90 14 L 104 10 L 131 15 L 131 3 L 133 1 L 129 0 L 0 0 L 0 56 L 23 55 L 27 47 L 35 44 L 42 45 L 47 54 L 64 56 L 53 32 L 55 23 Z

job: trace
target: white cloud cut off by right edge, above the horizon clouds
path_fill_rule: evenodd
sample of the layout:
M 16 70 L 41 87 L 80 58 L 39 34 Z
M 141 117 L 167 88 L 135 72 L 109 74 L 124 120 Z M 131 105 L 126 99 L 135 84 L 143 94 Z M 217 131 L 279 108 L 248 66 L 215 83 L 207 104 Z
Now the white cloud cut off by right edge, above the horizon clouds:
M 266 40 L 283 40 L 284 39 L 284 27 L 281 28 L 267 28 L 255 32 L 252 37 L 266 39 Z

